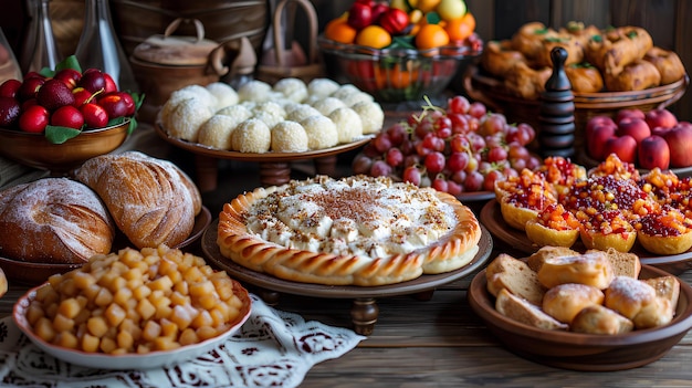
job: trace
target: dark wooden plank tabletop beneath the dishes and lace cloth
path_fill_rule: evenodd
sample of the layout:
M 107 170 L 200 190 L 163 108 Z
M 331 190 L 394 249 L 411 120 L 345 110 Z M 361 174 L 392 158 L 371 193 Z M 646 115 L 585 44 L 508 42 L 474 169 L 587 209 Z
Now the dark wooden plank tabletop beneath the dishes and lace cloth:
M 681 277 L 692 281 L 692 272 Z M 471 276 L 437 289 L 430 300 L 378 301 L 375 332 L 340 358 L 317 364 L 301 387 L 689 387 L 692 333 L 660 360 L 641 368 L 581 373 L 535 364 L 507 352 L 471 311 Z M 252 290 L 252 287 L 249 287 Z M 0 317 L 25 291 L 13 285 L 0 298 Z M 283 294 L 277 308 L 349 327 L 350 301 Z

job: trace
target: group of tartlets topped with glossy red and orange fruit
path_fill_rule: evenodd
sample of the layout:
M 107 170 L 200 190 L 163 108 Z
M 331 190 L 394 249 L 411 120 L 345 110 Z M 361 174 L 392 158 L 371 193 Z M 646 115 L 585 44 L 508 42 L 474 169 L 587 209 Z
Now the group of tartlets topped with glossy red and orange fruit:
M 675 255 L 692 248 L 691 178 L 654 168 L 640 174 L 611 154 L 588 172 L 563 157 L 499 181 L 506 223 L 536 247 Z M 635 244 L 638 245 L 635 245 Z

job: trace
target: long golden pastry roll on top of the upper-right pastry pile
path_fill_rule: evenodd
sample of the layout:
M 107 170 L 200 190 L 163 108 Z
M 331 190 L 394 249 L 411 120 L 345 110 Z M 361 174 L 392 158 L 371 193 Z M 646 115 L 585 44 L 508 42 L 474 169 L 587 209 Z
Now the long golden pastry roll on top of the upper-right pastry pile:
M 644 57 L 651 48 L 653 40 L 647 30 L 621 27 L 591 36 L 585 54 L 586 60 L 598 67 L 604 76 L 612 76 L 620 74 L 628 64 Z

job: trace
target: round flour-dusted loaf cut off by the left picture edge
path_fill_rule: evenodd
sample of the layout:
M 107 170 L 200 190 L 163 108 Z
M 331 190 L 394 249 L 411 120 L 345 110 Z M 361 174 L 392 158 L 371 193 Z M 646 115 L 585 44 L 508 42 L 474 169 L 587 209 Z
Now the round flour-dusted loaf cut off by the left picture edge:
M 43 178 L 0 191 L 0 254 L 41 263 L 82 263 L 111 252 L 115 226 L 88 187 Z

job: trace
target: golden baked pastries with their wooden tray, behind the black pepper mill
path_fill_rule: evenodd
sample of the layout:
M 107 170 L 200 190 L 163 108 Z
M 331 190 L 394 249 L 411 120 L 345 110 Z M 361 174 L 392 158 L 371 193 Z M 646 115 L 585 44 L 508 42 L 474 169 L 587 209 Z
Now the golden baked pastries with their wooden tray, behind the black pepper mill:
M 466 69 L 464 88 L 510 119 L 537 126 L 539 95 L 552 74 L 547 53 L 557 45 L 568 52 L 565 72 L 573 87 L 578 133 L 597 115 L 612 117 L 628 107 L 643 112 L 667 107 L 682 97 L 689 84 L 680 57 L 654 46 L 643 29 L 599 30 L 569 23 L 554 30 L 533 22 L 512 39 L 487 42 L 480 64 Z

